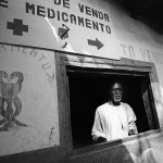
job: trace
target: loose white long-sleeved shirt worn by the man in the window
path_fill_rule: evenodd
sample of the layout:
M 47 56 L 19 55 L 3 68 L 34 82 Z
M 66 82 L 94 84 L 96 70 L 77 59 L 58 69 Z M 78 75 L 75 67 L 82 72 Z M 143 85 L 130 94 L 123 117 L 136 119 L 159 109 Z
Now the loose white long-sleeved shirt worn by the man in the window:
M 127 103 L 121 102 L 115 106 L 106 102 L 96 111 L 91 130 L 92 139 L 104 137 L 109 141 L 127 137 L 129 129 L 137 130 L 135 121 L 136 115 Z

